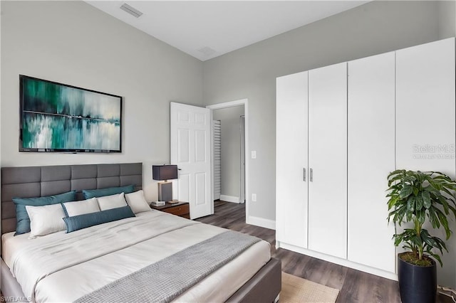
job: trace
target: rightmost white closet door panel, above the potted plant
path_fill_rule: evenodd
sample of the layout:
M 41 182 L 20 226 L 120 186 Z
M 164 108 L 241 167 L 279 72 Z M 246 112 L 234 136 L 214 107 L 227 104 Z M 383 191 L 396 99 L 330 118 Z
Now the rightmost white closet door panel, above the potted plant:
M 396 52 L 397 168 L 455 177 L 455 38 Z

